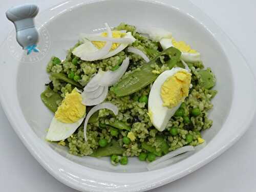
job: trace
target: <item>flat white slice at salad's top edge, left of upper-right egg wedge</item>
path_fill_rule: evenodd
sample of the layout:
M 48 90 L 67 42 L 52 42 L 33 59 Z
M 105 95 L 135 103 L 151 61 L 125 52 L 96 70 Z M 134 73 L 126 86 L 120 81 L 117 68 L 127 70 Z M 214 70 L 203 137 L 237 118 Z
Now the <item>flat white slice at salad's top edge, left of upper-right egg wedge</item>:
M 157 27 L 136 27 L 138 33 L 148 34 L 150 39 L 160 41 L 161 38 L 172 38 L 172 33 Z

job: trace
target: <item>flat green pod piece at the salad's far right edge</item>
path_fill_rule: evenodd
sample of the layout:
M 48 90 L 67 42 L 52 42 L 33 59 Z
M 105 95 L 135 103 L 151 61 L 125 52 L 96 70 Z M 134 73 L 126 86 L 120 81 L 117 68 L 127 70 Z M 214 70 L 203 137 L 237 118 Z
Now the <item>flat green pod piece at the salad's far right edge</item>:
M 210 89 L 215 86 L 215 76 L 211 73 L 209 69 L 200 70 L 198 74 L 201 76 L 201 80 L 199 81 L 199 85 L 204 87 L 205 89 Z

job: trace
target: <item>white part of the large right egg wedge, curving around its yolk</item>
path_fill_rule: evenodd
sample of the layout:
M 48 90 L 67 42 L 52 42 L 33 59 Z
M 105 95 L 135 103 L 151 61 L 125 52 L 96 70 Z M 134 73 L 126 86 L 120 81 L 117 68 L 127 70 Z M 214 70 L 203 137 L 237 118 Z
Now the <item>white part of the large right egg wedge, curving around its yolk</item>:
M 179 71 L 188 72 L 182 68 L 173 68 L 172 70 L 167 70 L 161 73 L 150 91 L 150 96 L 148 97 L 148 114 L 150 115 L 151 122 L 156 127 L 156 129 L 162 132 L 168 124 L 169 119 L 174 115 L 174 113 L 179 109 L 180 103 L 172 109 L 163 106 L 163 101 L 161 98 L 161 88 L 162 84 L 167 78 L 173 76 Z

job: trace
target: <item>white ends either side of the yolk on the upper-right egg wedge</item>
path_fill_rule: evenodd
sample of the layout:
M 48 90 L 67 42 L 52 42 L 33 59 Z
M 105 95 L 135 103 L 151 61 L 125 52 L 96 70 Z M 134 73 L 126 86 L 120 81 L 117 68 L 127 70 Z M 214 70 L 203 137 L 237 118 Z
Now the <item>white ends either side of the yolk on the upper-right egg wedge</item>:
M 163 50 L 169 48 L 169 47 L 174 47 L 172 38 L 162 38 L 160 41 L 160 45 L 163 48 Z M 181 57 L 182 60 L 185 62 L 196 62 L 201 60 L 201 55 L 200 53 L 186 53 L 182 52 Z

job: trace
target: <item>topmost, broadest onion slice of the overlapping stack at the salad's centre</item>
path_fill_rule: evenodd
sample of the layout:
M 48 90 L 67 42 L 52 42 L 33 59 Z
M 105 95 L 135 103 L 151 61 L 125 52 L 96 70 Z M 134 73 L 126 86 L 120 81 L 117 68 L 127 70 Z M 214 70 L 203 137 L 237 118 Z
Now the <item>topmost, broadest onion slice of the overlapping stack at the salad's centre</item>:
M 119 79 L 123 76 L 123 74 L 125 73 L 126 69 L 129 66 L 129 57 L 126 57 L 123 62 L 122 65 L 116 70 L 116 71 L 106 71 L 102 78 L 99 81 L 99 85 L 100 86 L 104 86 L 104 87 L 110 87 L 113 86 L 113 84 L 115 84 L 116 82 L 119 81 Z

